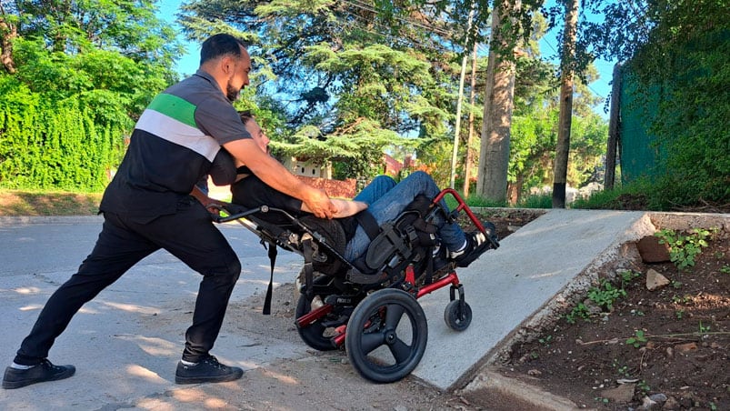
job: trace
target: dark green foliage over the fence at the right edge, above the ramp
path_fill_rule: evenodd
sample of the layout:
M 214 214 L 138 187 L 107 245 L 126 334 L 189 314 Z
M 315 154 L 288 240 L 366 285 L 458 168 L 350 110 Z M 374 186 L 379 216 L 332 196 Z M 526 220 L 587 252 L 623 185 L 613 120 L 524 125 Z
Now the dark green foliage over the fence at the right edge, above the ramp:
M 659 102 L 644 120 L 663 153 L 653 185 L 661 207 L 726 204 L 730 7 L 717 0 L 593 0 L 587 6 L 605 20 L 585 24 L 585 47 L 625 61 L 640 85 L 635 99 Z

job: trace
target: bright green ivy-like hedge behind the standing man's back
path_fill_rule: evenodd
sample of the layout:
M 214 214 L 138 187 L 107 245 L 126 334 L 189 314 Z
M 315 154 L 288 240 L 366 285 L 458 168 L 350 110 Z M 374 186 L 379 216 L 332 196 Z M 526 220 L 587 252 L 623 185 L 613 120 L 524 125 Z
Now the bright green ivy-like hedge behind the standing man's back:
M 131 129 L 113 98 L 56 101 L 11 77 L 0 77 L 0 95 L 0 187 L 104 189 Z

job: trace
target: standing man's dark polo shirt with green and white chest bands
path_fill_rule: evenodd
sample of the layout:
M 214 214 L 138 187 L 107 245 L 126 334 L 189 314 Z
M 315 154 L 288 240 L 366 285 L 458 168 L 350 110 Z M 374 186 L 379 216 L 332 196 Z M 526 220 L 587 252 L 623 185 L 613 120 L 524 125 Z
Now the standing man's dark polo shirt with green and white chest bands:
M 198 71 L 147 106 L 99 209 L 143 219 L 175 214 L 209 174 L 221 145 L 243 138 L 251 135 L 234 106 L 211 75 Z

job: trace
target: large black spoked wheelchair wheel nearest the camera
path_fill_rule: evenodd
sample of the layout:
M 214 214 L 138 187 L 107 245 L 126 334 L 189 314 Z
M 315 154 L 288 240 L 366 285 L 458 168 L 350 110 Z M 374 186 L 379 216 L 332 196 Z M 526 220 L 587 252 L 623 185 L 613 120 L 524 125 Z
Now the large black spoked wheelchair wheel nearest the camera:
M 345 350 L 360 376 L 392 383 L 418 365 L 427 339 L 428 323 L 415 298 L 385 288 L 355 306 L 347 323 Z

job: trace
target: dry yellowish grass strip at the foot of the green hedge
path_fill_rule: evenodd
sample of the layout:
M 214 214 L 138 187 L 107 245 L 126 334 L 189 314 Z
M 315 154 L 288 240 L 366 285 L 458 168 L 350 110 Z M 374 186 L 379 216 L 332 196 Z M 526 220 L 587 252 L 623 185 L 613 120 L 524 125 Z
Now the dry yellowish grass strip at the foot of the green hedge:
M 94 216 L 102 193 L 0 189 L 0 216 Z

